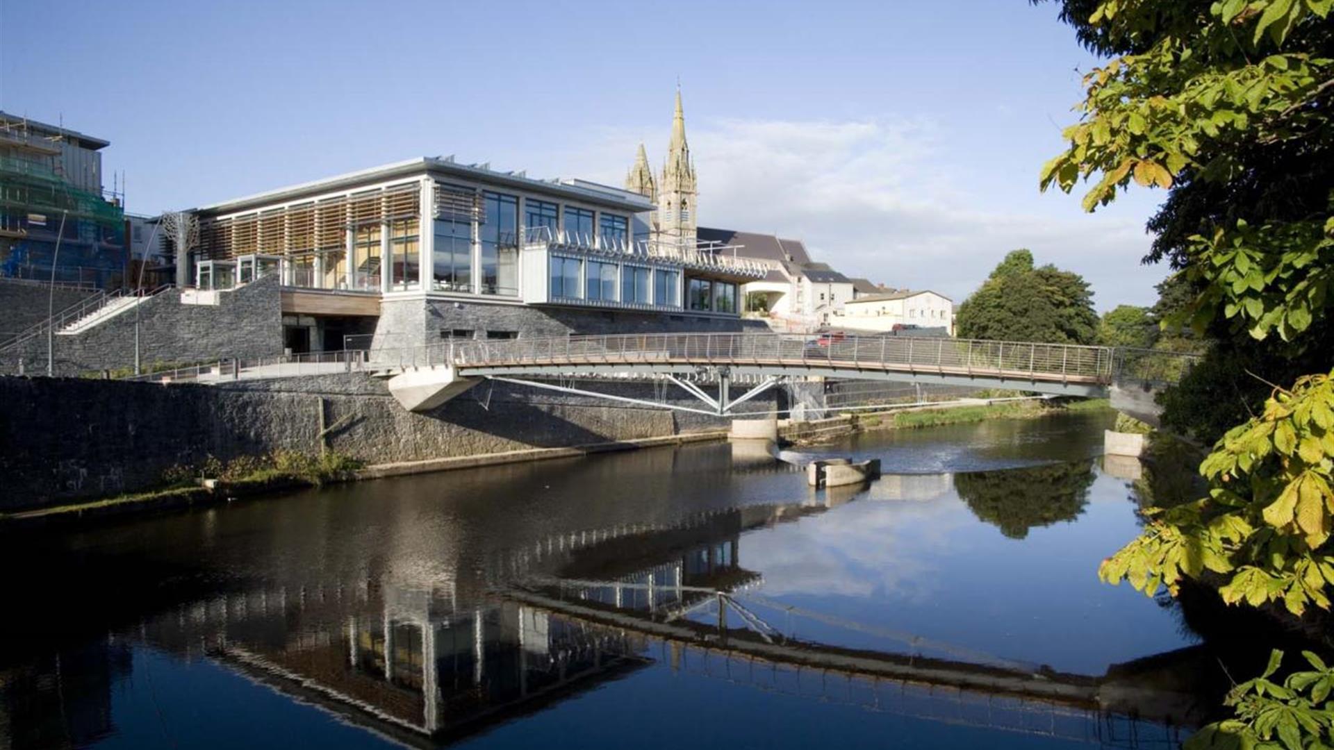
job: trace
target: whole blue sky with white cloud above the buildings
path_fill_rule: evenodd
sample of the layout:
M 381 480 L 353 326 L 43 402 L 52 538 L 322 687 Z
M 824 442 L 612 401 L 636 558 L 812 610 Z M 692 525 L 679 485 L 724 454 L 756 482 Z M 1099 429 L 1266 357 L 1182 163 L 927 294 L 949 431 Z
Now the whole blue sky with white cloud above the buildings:
M 700 226 L 955 302 L 1027 247 L 1106 311 L 1163 195 L 1038 191 L 1095 64 L 1027 0 L 0 0 L 0 109 L 109 140 L 136 214 L 451 153 L 619 185 L 679 81 Z

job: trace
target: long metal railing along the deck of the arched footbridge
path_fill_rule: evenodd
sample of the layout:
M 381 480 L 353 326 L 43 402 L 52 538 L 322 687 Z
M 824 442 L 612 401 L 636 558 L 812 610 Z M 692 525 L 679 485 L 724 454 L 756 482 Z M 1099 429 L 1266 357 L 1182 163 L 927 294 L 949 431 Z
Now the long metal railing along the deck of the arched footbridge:
M 432 344 L 412 364 L 559 366 L 687 362 L 712 366 L 830 366 L 1007 379 L 1110 382 L 1115 350 L 940 336 L 619 334 Z M 407 363 L 406 363 L 407 364 Z

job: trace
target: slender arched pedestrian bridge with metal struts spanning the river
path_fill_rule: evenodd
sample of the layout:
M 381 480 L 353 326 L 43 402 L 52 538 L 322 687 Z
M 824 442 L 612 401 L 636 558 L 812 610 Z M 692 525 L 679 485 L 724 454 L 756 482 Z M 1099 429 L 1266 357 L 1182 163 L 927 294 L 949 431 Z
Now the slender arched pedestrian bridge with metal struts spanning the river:
M 686 411 L 730 415 L 734 407 L 786 380 L 835 378 L 999 388 L 1137 402 L 1151 418 L 1151 392 L 1177 382 L 1195 355 L 1033 342 L 796 334 L 622 334 L 507 340 L 450 340 L 394 348 L 317 352 L 264 360 L 221 360 L 140 376 L 216 383 L 362 371 L 388 378 L 411 411 L 427 411 L 484 379 L 668 407 L 558 384 L 571 378 L 663 379 L 698 398 Z M 716 394 L 700 383 L 715 384 Z M 732 386 L 739 395 L 732 395 Z M 1138 394 L 1135 392 L 1138 391 Z M 1149 398 L 1146 398 L 1146 394 Z M 1147 404 L 1147 406 L 1143 406 Z M 1113 406 L 1118 406 L 1114 403 Z

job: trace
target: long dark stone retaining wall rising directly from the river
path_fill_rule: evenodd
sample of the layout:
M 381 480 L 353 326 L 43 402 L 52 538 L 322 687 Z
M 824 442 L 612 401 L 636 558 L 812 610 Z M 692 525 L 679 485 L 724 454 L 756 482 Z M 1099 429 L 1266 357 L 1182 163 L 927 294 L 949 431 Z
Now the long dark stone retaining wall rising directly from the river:
M 595 390 L 700 407 L 671 387 Z M 774 408 L 770 391 L 750 408 Z M 786 408 L 786 406 L 779 406 Z M 155 486 L 175 464 L 285 448 L 331 450 L 366 463 L 564 447 L 720 428 L 727 420 L 535 388 L 483 383 L 428 414 L 404 411 L 363 374 L 225 386 L 0 378 L 0 510 Z

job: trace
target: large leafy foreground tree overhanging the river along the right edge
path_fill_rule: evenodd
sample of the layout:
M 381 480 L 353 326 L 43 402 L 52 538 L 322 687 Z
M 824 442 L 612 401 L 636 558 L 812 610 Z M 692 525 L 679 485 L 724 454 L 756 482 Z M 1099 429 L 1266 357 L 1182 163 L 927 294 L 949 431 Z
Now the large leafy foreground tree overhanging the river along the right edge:
M 1163 398 L 1163 423 L 1214 443 L 1207 494 L 1146 510 L 1099 573 L 1149 595 L 1189 578 L 1217 581 L 1230 605 L 1329 610 L 1334 0 L 1057 1 L 1110 60 L 1086 75 L 1081 120 L 1041 185 L 1090 184 L 1087 211 L 1131 181 L 1169 191 L 1146 258 L 1178 271 L 1159 287 L 1161 328 L 1206 356 Z M 1281 661 L 1187 746 L 1329 746 L 1334 678 L 1314 658 L 1281 685 Z

